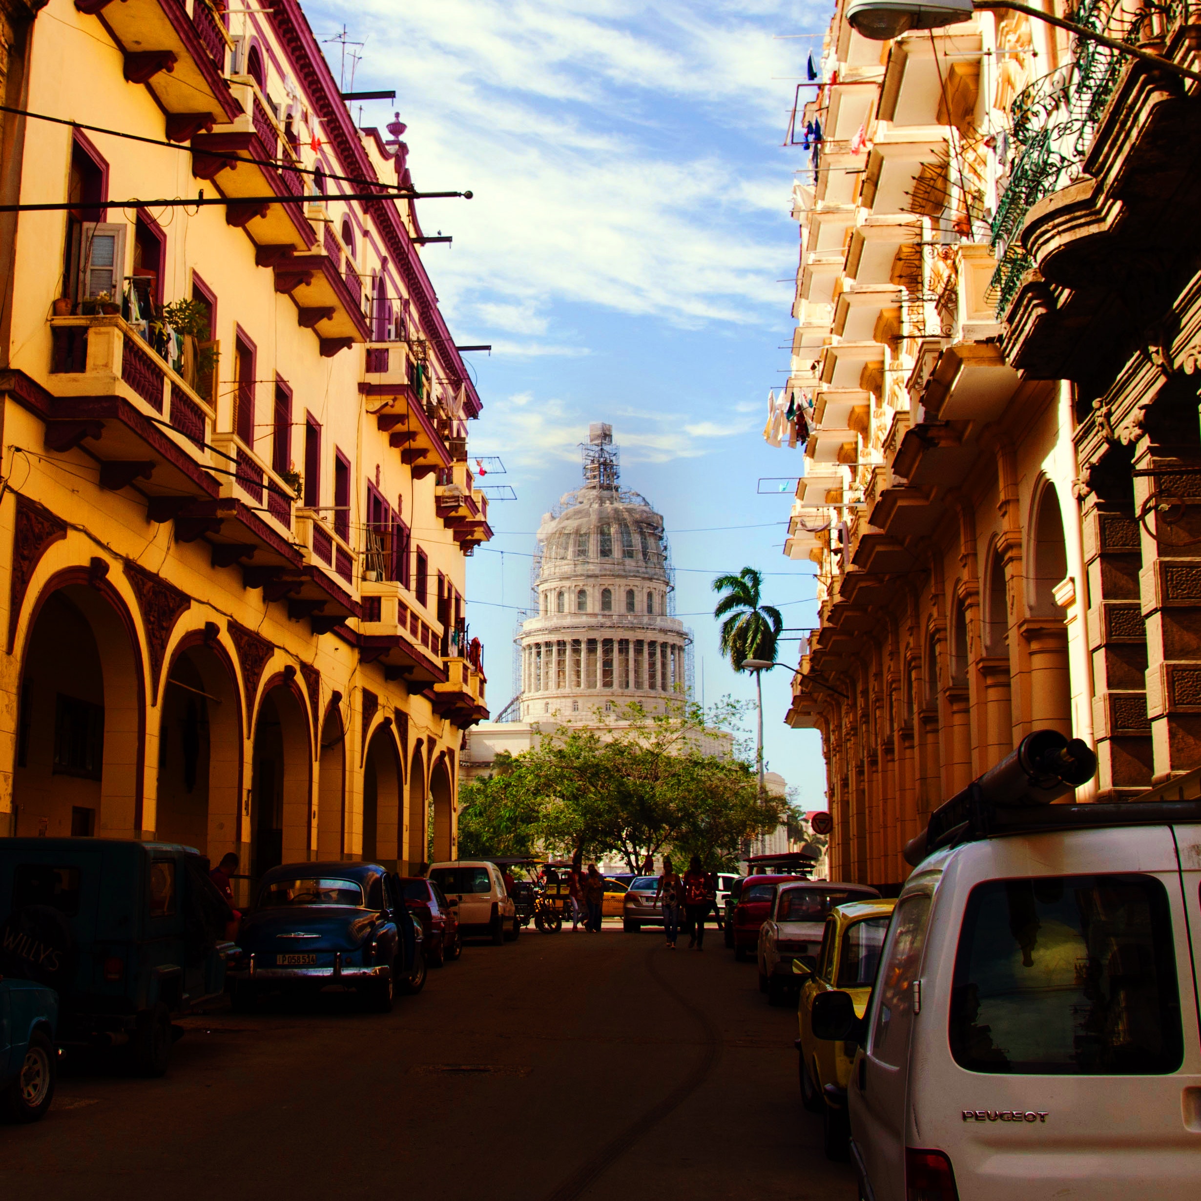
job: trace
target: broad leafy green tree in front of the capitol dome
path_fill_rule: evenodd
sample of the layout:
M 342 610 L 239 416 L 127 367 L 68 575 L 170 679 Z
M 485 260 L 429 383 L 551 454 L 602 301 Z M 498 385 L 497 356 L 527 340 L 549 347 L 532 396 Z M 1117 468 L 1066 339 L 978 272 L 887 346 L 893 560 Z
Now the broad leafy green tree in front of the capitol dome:
M 727 704 L 719 716 L 736 710 Z M 782 799 L 760 803 L 752 767 L 728 746 L 682 700 L 664 713 L 629 705 L 588 727 L 558 727 L 461 790 L 460 853 L 619 855 L 633 872 L 667 853 L 728 865 L 746 839 L 787 818 Z

